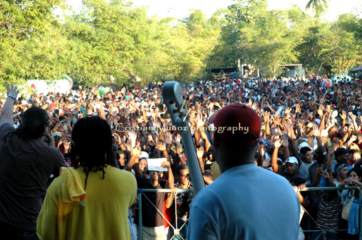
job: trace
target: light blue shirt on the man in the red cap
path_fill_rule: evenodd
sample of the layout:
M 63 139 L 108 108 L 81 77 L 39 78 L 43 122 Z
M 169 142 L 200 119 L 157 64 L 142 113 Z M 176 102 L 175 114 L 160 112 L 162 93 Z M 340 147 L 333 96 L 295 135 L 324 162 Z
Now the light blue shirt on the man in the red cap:
M 233 167 L 195 196 L 187 239 L 297 240 L 299 208 L 285 178 L 255 164 Z

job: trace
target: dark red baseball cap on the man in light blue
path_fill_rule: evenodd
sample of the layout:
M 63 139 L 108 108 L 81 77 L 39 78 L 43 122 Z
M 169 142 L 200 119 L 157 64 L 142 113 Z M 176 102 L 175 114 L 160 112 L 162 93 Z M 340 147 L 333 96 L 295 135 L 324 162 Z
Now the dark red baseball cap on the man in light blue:
M 260 138 L 262 120 L 253 108 L 235 102 L 209 118 L 220 139 L 237 141 L 242 145 L 255 145 Z

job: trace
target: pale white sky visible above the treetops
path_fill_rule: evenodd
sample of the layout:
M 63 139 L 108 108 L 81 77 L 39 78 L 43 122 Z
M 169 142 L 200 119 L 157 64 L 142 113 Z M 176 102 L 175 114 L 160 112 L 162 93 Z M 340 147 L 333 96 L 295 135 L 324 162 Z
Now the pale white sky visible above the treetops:
M 81 0 L 67 0 L 73 9 L 77 11 L 81 5 Z M 226 8 L 233 4 L 233 0 L 130 0 L 134 6 L 147 6 L 149 16 L 158 15 L 161 17 L 173 16 L 184 18 L 192 9 L 200 9 L 209 18 L 217 9 Z M 290 5 L 296 4 L 305 10 L 308 0 L 269 0 L 269 10 L 286 10 Z M 339 14 L 362 12 L 362 0 L 330 0 L 328 1 L 328 11 L 326 20 L 337 19 Z

